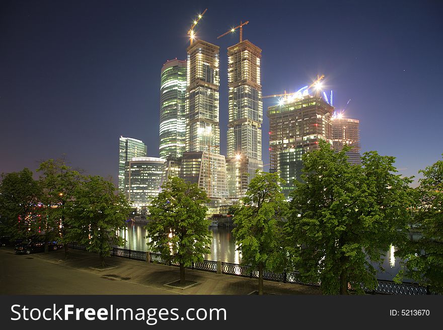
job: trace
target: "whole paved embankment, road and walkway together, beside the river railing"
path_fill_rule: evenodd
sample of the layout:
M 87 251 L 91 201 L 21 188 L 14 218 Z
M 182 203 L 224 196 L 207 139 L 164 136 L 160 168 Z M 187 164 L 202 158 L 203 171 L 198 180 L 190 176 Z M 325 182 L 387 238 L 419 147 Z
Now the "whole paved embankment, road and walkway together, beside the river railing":
M 178 267 L 109 257 L 110 268 L 101 270 L 95 253 L 70 249 L 69 256 L 64 259 L 63 250 L 16 255 L 11 248 L 2 247 L 0 293 L 248 295 L 258 289 L 257 279 L 191 269 L 186 270 L 186 280 L 197 285 L 185 290 L 171 288 L 165 284 L 180 278 Z M 275 295 L 321 294 L 316 287 L 272 281 L 264 281 L 264 291 Z

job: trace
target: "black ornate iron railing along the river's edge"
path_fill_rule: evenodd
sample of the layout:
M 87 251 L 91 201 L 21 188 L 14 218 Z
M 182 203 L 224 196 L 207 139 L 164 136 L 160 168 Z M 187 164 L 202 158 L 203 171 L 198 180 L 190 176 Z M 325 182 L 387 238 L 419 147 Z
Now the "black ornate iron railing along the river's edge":
M 68 244 L 72 249 L 77 250 L 86 250 L 85 246 L 71 243 Z M 164 258 L 161 254 L 157 253 L 146 253 L 142 251 L 133 251 L 120 249 L 119 247 L 114 247 L 111 256 L 121 257 L 126 259 L 133 259 L 146 262 L 146 256 L 149 255 L 149 261 L 151 263 L 169 265 L 169 266 L 179 266 L 177 262 L 168 262 L 166 258 Z M 258 278 L 258 271 L 253 270 L 251 266 L 239 265 L 239 264 L 231 264 L 231 263 L 220 263 L 221 274 L 234 275 L 234 276 L 242 276 L 249 278 Z M 203 260 L 202 262 L 193 263 L 192 266 L 188 267 L 189 269 L 201 270 L 205 272 L 217 272 L 217 262 L 210 260 Z M 302 284 L 309 286 L 320 286 L 320 283 L 307 283 L 301 279 L 300 273 L 298 272 L 290 272 L 290 273 L 274 273 L 271 271 L 264 270 L 263 271 L 263 279 L 268 281 L 276 281 L 276 282 L 284 282 L 284 283 L 294 283 L 294 284 Z M 375 290 L 370 290 L 366 287 L 363 287 L 363 290 L 366 293 L 370 294 L 401 294 L 401 295 L 425 295 L 425 294 L 433 294 L 429 292 L 429 290 L 425 287 L 419 286 L 414 283 L 403 282 L 401 284 L 395 283 L 394 281 L 387 280 L 378 280 L 378 286 Z

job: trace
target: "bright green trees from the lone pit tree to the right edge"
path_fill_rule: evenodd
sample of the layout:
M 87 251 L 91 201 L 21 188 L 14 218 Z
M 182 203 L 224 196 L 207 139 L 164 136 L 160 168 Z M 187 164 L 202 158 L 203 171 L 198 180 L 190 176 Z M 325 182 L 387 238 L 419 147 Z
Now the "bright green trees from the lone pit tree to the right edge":
M 303 156 L 303 182 L 295 181 L 291 201 L 281 194 L 277 173 L 257 172 L 246 197 L 234 207 L 233 234 L 242 263 L 258 271 L 298 271 L 324 294 L 363 293 L 378 284 L 377 270 L 391 244 L 405 260 L 397 276 L 443 292 L 443 161 L 421 171 L 420 186 L 397 174 L 395 158 L 364 153 L 361 165 L 347 161 L 344 148 L 326 142 Z M 181 269 L 209 253 L 206 195 L 196 185 L 173 178 L 154 199 L 146 226 L 152 251 Z M 410 230 L 421 238 L 409 239 Z

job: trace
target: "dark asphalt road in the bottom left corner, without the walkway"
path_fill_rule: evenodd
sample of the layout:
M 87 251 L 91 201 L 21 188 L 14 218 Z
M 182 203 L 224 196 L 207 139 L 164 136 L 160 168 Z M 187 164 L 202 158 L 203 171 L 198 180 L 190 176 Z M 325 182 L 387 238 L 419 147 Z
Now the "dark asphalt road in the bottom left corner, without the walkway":
M 177 294 L 0 249 L 0 294 Z

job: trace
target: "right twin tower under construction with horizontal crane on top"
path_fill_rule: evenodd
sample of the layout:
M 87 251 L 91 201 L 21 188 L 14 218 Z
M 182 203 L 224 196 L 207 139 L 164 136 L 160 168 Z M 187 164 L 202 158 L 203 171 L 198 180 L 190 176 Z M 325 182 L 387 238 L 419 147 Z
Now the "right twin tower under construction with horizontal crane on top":
M 244 197 L 255 171 L 263 169 L 260 58 L 261 49 L 248 40 L 228 47 L 227 175 L 231 198 Z

